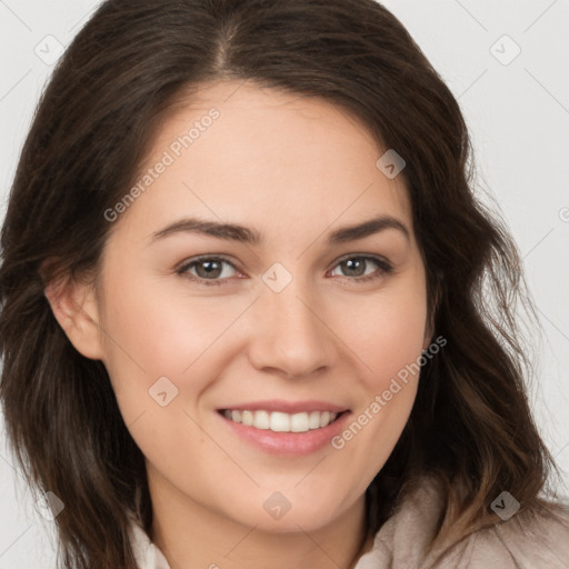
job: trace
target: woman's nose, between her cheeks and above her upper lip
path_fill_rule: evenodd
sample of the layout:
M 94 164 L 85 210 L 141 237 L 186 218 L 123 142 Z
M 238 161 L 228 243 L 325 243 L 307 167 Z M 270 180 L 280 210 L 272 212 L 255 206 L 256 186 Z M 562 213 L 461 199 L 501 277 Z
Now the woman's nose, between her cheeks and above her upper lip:
M 284 378 L 307 378 L 333 365 L 335 335 L 326 325 L 321 301 L 300 279 L 282 291 L 261 292 L 256 302 L 249 353 L 252 365 Z

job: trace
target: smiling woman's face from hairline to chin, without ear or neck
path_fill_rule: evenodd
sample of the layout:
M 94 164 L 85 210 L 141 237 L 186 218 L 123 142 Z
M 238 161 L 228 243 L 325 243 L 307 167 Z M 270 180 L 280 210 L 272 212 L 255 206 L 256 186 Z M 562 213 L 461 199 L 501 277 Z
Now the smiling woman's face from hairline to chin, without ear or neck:
M 429 342 L 386 150 L 325 100 L 249 83 L 202 86 L 163 123 L 108 213 L 97 305 L 151 488 L 268 531 L 362 503 Z

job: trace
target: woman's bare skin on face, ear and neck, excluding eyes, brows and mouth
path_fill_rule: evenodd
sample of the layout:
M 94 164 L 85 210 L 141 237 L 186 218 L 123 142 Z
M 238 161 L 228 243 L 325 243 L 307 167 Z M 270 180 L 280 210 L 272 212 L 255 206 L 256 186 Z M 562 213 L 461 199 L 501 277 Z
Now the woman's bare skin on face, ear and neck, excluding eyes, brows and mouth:
M 328 101 L 250 82 L 201 87 L 151 144 L 144 168 L 210 108 L 220 117 L 112 224 L 97 288 L 50 286 L 47 296 L 74 347 L 104 362 L 120 411 L 147 458 L 151 538 L 176 568 L 350 568 L 371 546 L 363 492 L 409 417 L 417 377 L 346 446 L 308 456 L 268 453 L 237 437 L 217 409 L 264 399 L 369 408 L 431 340 L 422 258 L 402 176 Z M 144 168 L 142 170 L 144 170 Z M 386 229 L 328 246 L 339 227 L 389 214 Z M 257 246 L 211 236 L 152 234 L 186 216 L 254 228 Z M 207 286 L 176 267 L 198 254 L 230 263 Z M 340 259 L 376 256 L 358 282 Z M 281 263 L 291 282 L 262 280 Z M 201 266 L 202 268 L 203 266 Z M 198 276 L 199 274 L 199 276 Z M 167 377 L 178 395 L 149 397 Z M 274 491 L 290 510 L 273 519 Z

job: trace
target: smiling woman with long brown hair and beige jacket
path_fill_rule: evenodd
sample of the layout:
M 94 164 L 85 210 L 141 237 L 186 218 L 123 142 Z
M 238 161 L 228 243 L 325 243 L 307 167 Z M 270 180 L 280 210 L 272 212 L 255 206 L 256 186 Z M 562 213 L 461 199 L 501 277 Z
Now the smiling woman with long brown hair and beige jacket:
M 7 429 L 63 567 L 569 563 L 469 157 L 371 0 L 100 7 L 2 230 Z

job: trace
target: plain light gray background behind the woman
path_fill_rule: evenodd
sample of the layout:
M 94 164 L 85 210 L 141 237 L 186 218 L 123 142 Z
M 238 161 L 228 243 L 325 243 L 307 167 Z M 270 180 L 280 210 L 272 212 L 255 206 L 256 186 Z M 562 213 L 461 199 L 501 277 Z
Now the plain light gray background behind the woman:
M 569 0 L 383 3 L 408 28 L 459 99 L 480 179 L 500 204 L 519 244 L 546 332 L 542 340 L 536 336 L 540 382 L 532 389 L 532 405 L 567 477 Z M 24 136 L 52 69 L 49 60 L 57 56 L 57 42 L 67 46 L 98 4 L 93 0 L 0 0 L 2 218 Z M 521 49 L 508 64 L 503 63 L 516 47 L 500 39 L 505 34 Z M 52 568 L 52 522 L 36 511 L 30 491 L 12 466 L 3 425 L 1 428 L 0 569 Z

